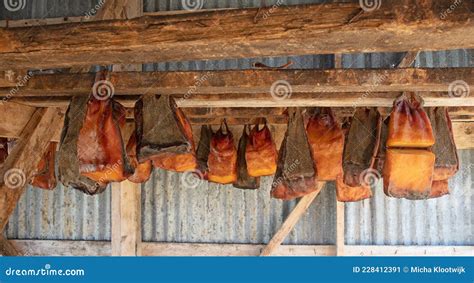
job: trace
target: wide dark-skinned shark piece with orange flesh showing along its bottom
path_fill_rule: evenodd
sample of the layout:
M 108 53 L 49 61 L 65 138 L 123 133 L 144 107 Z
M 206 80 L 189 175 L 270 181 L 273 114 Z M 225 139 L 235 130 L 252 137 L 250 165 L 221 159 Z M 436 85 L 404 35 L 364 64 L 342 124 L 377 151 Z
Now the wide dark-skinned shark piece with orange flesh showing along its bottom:
M 135 104 L 137 157 L 177 172 L 197 167 L 191 125 L 169 95 L 143 95 Z

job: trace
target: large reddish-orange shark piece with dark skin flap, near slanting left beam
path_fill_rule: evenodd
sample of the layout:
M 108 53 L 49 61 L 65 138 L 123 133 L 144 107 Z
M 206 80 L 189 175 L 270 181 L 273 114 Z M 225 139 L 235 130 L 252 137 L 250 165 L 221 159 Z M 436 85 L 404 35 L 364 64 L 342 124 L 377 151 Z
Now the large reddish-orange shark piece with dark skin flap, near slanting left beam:
M 111 98 L 112 89 L 100 86 L 106 81 L 107 73 L 99 72 L 93 95 L 72 98 L 58 152 L 60 181 L 87 194 L 133 174 L 121 135 L 125 108 Z

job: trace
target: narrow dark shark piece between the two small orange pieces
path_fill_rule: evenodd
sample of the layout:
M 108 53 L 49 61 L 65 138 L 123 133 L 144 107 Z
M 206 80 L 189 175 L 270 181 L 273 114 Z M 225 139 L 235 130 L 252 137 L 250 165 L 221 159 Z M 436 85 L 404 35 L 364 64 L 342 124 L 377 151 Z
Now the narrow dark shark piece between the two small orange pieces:
M 239 148 L 237 149 L 237 181 L 234 182 L 234 187 L 253 190 L 260 187 L 260 178 L 250 176 L 247 170 L 245 154 L 249 144 L 249 134 L 247 134 L 249 130 L 250 126 L 245 125 L 239 140 Z

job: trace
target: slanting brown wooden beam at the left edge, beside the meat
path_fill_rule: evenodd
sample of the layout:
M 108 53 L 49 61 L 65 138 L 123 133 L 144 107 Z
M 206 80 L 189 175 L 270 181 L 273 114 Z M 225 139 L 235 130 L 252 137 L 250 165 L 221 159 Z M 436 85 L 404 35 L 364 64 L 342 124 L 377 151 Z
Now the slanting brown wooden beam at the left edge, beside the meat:
M 60 121 L 58 109 L 37 109 L 0 168 L 0 231 L 5 228 L 56 128 L 62 126 Z

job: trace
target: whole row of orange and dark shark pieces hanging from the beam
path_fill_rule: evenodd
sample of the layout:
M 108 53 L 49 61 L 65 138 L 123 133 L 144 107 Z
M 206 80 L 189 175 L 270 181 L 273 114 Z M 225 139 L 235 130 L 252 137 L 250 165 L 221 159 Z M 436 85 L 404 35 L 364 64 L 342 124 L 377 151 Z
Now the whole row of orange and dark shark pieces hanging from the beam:
M 107 73 L 96 80 L 107 80 Z M 237 146 L 225 120 L 216 132 L 202 126 L 196 148 L 189 121 L 168 95 L 137 101 L 130 137 L 123 137 L 125 112 L 113 97 L 73 97 L 57 159 L 51 143 L 31 183 L 53 189 L 56 161 L 59 181 L 87 194 L 110 182 L 146 182 L 155 167 L 242 189 L 258 189 L 260 177 L 274 175 L 271 195 L 284 200 L 315 191 L 318 181 L 335 181 L 339 201 L 359 201 L 372 196 L 382 177 L 388 196 L 426 199 L 448 194 L 448 179 L 459 169 L 447 109 L 425 112 L 415 94 L 397 98 L 388 117 L 362 107 L 343 125 L 330 108 L 289 108 L 279 151 L 266 121 L 245 125 Z

